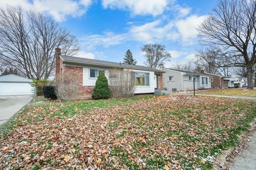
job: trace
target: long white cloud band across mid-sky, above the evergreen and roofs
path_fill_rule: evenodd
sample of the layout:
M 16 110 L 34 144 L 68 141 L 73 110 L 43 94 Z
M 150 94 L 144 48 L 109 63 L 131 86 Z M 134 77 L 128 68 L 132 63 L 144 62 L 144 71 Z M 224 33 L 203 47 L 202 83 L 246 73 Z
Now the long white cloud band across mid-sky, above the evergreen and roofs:
M 171 21 L 155 20 L 142 25 L 131 25 L 127 32 L 103 32 L 103 35 L 90 35 L 80 38 L 82 46 L 88 50 L 95 46 L 110 47 L 123 44 L 127 41 L 146 43 L 177 42 L 181 45 L 191 45 L 196 42 L 197 27 L 206 18 L 206 15 L 191 15 L 185 19 Z

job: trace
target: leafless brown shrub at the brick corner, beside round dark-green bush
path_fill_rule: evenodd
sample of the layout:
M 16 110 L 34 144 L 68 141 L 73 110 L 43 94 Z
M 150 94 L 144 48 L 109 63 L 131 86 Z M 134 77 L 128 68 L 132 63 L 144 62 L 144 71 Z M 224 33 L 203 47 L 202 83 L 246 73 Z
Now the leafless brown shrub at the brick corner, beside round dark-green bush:
M 75 74 L 61 74 L 56 78 L 55 92 L 57 97 L 61 100 L 75 100 L 78 97 L 78 83 Z

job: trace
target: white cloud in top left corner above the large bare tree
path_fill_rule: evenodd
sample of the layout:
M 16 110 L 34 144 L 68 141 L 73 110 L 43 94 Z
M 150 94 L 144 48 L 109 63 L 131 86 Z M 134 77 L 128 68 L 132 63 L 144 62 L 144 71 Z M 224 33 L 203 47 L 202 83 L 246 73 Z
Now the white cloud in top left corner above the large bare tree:
M 65 21 L 67 16 L 82 16 L 87 8 L 92 4 L 92 0 L 1 0 L 0 6 L 19 5 L 26 10 L 43 12 L 50 14 L 56 21 Z

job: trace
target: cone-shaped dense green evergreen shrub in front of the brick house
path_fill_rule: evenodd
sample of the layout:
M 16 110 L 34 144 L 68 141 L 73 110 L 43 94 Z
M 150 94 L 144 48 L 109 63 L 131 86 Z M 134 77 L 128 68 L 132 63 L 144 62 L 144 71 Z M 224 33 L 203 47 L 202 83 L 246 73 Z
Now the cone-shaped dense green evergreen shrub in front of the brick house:
M 108 80 L 104 73 L 100 73 L 96 81 L 92 94 L 93 99 L 107 99 L 110 97 L 110 90 L 108 88 Z

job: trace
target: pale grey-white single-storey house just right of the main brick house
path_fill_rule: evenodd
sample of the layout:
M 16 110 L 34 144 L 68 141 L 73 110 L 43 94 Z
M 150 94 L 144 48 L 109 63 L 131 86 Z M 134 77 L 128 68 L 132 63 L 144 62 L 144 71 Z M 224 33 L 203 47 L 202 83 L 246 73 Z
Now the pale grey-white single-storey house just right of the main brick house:
M 195 89 L 211 88 L 211 76 L 163 67 L 163 82 L 165 90 L 193 90 L 195 76 Z

